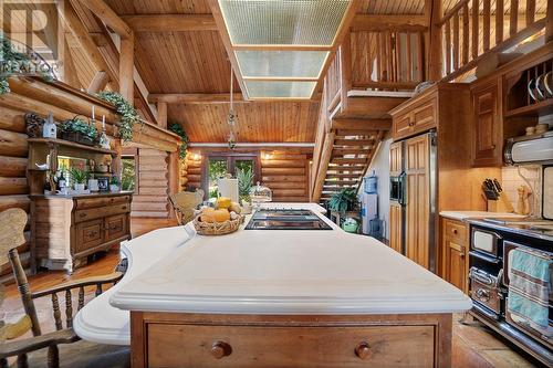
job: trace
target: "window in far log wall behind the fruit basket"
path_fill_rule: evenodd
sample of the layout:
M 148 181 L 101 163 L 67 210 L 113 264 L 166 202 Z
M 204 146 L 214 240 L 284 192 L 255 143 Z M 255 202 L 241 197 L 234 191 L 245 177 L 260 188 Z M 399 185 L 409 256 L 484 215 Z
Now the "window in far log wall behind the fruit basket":
M 252 154 L 213 154 L 207 155 L 204 164 L 202 188 L 208 199 L 218 196 L 218 179 L 227 174 L 236 178 L 237 169 L 253 171 L 254 181 L 260 178 L 259 156 Z

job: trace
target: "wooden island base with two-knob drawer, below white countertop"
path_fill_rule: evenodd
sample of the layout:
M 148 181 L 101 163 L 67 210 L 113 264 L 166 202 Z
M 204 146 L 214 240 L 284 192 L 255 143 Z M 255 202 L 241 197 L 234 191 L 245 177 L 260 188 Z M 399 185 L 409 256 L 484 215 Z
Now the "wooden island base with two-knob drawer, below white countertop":
M 451 314 L 131 313 L 138 367 L 450 367 Z

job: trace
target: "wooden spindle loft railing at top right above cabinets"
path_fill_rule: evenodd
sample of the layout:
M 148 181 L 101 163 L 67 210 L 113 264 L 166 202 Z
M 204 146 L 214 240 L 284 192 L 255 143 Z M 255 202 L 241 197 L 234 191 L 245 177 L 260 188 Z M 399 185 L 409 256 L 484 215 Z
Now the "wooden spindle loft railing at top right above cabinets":
M 460 0 L 444 14 L 446 80 L 476 67 L 484 54 L 509 49 L 545 28 L 546 3 L 535 0 Z

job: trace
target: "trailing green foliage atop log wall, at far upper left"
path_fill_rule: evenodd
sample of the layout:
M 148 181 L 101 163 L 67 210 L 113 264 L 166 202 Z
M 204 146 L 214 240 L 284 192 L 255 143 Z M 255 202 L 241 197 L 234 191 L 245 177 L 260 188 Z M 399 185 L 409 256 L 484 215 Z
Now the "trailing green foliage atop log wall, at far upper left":
M 11 75 L 35 73 L 46 82 L 53 80 L 50 73 L 36 71 L 36 64 L 28 54 L 17 51 L 2 31 L 0 31 L 0 95 L 10 92 L 8 77 Z

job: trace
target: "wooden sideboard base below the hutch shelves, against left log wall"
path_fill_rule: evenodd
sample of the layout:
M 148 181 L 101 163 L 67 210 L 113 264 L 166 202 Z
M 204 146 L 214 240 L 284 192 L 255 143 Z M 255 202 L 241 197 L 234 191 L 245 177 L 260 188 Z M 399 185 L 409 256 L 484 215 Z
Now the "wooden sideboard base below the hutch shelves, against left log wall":
M 132 192 L 30 197 L 38 266 L 73 272 L 88 255 L 131 239 Z

